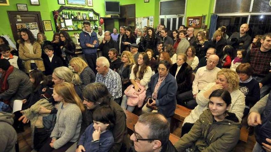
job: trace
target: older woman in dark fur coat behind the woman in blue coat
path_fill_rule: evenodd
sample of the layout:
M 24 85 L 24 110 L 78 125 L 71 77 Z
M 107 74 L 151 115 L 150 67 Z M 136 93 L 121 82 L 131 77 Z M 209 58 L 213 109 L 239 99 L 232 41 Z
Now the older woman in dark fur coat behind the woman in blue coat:
M 192 89 L 192 68 L 186 63 L 186 60 L 187 57 L 185 54 L 179 54 L 177 56 L 177 62 L 169 69 L 169 73 L 175 77 L 178 84 L 176 95 Z M 180 69 L 176 74 L 178 67 L 180 67 Z

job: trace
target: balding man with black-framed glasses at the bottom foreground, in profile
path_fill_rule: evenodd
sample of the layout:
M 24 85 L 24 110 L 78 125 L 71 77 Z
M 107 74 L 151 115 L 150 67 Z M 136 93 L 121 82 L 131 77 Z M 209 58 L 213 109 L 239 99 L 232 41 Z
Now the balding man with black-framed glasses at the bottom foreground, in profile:
M 129 152 L 177 152 L 169 141 L 170 123 L 159 113 L 139 116 L 130 139 L 134 142 Z

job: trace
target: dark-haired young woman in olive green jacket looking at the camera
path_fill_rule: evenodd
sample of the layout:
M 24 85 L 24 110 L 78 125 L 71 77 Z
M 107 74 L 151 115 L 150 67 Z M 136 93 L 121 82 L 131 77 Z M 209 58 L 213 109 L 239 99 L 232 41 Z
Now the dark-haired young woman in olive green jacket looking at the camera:
M 228 152 L 236 146 L 241 123 L 234 113 L 227 111 L 231 104 L 230 93 L 219 89 L 209 98 L 209 108 L 176 143 L 178 152 Z

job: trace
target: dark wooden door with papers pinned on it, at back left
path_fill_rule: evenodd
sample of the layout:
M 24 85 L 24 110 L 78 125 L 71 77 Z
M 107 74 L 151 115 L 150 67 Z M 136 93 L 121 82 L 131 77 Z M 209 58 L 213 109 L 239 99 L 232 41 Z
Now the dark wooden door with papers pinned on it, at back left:
M 7 13 L 8 13 L 8 17 L 9 17 L 9 20 L 10 20 L 10 27 L 11 27 L 11 30 L 12 30 L 12 34 L 13 34 L 13 37 L 14 37 L 15 41 L 17 41 L 19 39 L 19 36 L 17 34 L 18 29 L 20 27 L 25 27 L 25 26 L 23 26 L 23 24 L 25 24 L 25 23 L 32 23 L 32 24 L 28 24 L 29 25 L 28 27 L 32 26 L 31 32 L 33 34 L 35 33 L 34 37 L 37 36 L 36 35 L 37 30 L 34 30 L 36 25 L 38 26 L 38 31 L 44 33 L 40 12 L 34 12 L 34 11 L 7 11 Z

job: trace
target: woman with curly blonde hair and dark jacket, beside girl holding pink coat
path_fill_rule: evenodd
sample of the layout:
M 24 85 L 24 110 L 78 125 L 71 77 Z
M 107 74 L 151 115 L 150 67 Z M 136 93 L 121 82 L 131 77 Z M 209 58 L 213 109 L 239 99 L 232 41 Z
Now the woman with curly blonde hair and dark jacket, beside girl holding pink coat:
M 122 64 L 119 67 L 118 73 L 121 78 L 123 92 L 131 84 L 129 77 L 135 61 L 132 53 L 129 51 L 123 51 L 120 58 Z

